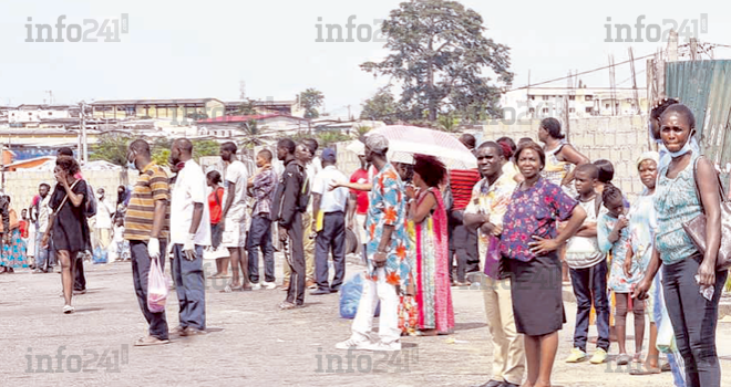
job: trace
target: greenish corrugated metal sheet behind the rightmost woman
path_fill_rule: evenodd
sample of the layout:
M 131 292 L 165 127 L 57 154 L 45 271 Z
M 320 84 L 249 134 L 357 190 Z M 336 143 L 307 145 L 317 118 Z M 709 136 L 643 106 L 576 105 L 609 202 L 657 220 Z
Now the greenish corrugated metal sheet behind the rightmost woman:
M 666 95 L 693 111 L 703 154 L 722 169 L 731 163 L 731 61 L 668 63 Z

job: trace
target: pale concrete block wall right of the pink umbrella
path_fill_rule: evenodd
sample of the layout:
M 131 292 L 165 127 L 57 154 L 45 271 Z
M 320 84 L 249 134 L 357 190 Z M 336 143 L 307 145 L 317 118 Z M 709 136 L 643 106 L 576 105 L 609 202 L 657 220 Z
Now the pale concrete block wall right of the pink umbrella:
M 538 139 L 540 119 L 495 122 L 484 126 L 483 140 L 508 136 L 518 142 L 522 137 Z M 569 121 L 569 143 L 590 160 L 605 158 L 615 166 L 614 184 L 631 201 L 644 189 L 635 163 L 649 149 L 647 117 L 614 116 L 587 117 Z

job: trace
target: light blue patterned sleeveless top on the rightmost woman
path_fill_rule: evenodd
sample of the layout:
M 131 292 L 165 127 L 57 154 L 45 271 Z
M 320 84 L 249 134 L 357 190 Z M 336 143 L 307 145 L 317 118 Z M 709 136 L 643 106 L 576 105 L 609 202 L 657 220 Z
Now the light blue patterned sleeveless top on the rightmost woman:
M 690 163 L 675 179 L 668 178 L 668 165 L 658 172 L 658 186 L 655 192 L 655 212 L 658 229 L 655 245 L 662 263 L 682 261 L 698 252 L 690 237 L 682 229 L 682 223 L 699 215 L 702 208 L 696 194 L 696 160 L 693 151 Z

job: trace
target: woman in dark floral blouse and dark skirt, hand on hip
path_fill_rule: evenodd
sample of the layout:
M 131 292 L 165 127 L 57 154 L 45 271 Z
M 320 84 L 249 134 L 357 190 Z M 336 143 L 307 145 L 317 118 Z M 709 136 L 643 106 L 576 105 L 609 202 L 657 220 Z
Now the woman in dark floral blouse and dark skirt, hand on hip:
M 501 254 L 509 262 L 515 326 L 525 339 L 528 375 L 524 386 L 548 387 L 558 330 L 566 322 L 556 250 L 576 233 L 586 212 L 540 176 L 546 165 L 540 146 L 524 144 L 515 159 L 525 180 L 513 192 L 503 219 Z M 560 232 L 558 221 L 566 222 Z

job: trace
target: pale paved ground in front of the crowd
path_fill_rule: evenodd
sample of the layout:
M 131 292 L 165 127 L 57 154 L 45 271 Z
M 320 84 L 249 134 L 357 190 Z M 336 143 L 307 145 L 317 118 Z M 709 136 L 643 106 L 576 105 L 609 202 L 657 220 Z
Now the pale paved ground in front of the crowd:
M 348 264 L 350 274 L 358 269 Z M 207 322 L 214 332 L 135 348 L 132 343 L 145 334 L 146 324 L 133 293 L 130 264 L 89 266 L 87 279 L 89 293 L 74 299 L 76 313 L 63 315 L 59 274 L 0 275 L 0 386 L 375 386 L 388 381 L 394 387 L 423 387 L 471 386 L 490 376 L 492 348 L 476 290 L 453 293 L 454 335 L 408 337 L 398 356 L 353 353 L 349 360 L 348 353 L 333 348 L 350 332 L 350 321 L 338 315 L 334 294 L 307 296 L 307 307 L 281 312 L 277 304 L 282 291 L 222 294 L 224 283 L 209 280 Z M 572 346 L 575 313 L 574 304 L 566 308 L 569 322 L 560 333 L 555 385 L 671 385 L 669 374 L 632 377 L 614 363 L 562 363 Z M 167 316 L 171 328 L 177 325 L 174 295 Z M 722 355 L 731 355 L 731 324 L 720 324 L 718 344 Z M 616 352 L 612 345 L 610 353 Z M 49 369 L 47 359 L 53 373 L 43 372 Z M 342 372 L 336 373 L 338 360 Z M 731 357 L 722 366 L 731 386 Z

